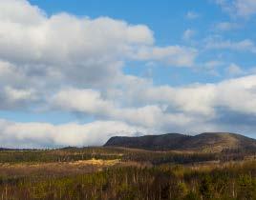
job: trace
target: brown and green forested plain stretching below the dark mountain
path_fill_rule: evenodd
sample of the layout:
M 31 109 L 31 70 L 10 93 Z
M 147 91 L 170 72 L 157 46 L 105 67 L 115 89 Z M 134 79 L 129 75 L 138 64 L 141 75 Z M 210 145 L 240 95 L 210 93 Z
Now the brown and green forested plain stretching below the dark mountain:
M 256 154 L 0 150 L 0 199 L 256 199 Z

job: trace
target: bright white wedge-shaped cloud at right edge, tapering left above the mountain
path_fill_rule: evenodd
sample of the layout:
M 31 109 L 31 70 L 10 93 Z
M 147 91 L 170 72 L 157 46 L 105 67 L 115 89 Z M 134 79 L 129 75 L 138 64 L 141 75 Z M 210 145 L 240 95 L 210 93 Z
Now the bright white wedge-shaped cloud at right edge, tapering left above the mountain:
M 256 97 L 255 75 L 225 80 L 217 84 L 200 84 L 185 88 L 164 87 L 161 90 L 148 90 L 148 93 L 141 95 L 148 95 L 148 98 L 156 96 L 156 100 L 168 101 L 179 110 L 205 114 L 208 117 L 214 116 L 218 107 L 256 114 L 256 102 L 253 100 Z

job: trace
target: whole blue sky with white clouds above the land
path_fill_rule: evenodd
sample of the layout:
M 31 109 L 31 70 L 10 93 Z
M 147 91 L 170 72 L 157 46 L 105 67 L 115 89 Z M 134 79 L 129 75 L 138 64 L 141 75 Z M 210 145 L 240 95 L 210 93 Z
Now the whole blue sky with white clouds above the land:
M 255 0 L 1 0 L 0 146 L 256 138 Z

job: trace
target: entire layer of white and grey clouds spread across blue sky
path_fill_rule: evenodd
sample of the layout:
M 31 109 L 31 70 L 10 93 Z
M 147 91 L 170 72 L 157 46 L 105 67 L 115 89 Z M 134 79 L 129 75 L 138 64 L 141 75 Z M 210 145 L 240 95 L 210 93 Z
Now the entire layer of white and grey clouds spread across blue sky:
M 227 1 L 216 1 L 224 11 L 237 10 L 238 17 L 246 18 L 256 13 L 253 2 L 236 0 L 227 6 Z M 187 14 L 188 20 L 198 17 Z M 26 0 L 1 0 L 0 27 L 0 110 L 58 110 L 94 119 L 87 124 L 74 120 L 53 125 L 3 118 L 1 146 L 92 146 L 102 145 L 113 135 L 256 131 L 253 71 L 230 64 L 226 71 L 232 76 L 226 80 L 181 87 L 156 85 L 152 78 L 124 73 L 127 62 L 158 63 L 161 68 L 202 65 L 197 63 L 199 47 L 158 46 L 146 25 L 66 12 L 49 16 Z M 187 41 L 194 34 L 188 29 L 181 37 Z M 256 52 L 253 41 L 246 38 L 226 41 L 210 36 L 203 44 L 205 51 Z M 211 69 L 220 62 L 203 65 Z

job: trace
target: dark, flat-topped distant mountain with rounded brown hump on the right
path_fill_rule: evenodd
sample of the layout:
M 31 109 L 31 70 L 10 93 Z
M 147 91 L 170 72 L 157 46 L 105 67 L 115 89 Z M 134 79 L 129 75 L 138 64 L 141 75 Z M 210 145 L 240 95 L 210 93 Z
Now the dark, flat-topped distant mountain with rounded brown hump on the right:
M 112 137 L 105 147 L 143 150 L 256 150 L 256 140 L 229 132 L 204 132 L 195 136 L 180 133 L 145 135 L 140 137 Z

